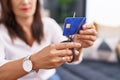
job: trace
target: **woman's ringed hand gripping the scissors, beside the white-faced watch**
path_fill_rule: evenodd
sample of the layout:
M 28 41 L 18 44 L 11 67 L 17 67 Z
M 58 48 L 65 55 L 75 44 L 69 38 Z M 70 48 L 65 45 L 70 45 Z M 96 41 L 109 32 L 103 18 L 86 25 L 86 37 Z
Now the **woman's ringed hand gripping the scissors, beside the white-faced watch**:
M 70 48 L 80 48 L 81 44 L 76 42 L 66 42 L 51 44 L 41 51 L 33 54 L 33 70 L 51 69 L 71 61 L 72 51 Z

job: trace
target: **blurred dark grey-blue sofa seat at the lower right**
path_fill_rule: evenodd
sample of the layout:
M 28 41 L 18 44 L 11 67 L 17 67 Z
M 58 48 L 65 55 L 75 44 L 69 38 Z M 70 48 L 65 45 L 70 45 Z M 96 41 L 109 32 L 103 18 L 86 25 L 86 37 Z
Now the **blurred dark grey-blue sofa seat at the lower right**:
M 84 59 L 81 64 L 57 68 L 62 80 L 120 80 L 120 64 Z

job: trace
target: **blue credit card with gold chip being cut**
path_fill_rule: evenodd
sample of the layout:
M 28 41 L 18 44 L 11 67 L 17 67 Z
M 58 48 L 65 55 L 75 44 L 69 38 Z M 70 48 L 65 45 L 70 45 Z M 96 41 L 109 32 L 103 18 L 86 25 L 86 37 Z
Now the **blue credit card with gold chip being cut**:
M 82 25 L 86 23 L 85 17 L 68 17 L 65 19 L 63 27 L 63 35 L 69 36 L 78 34 L 82 29 Z

